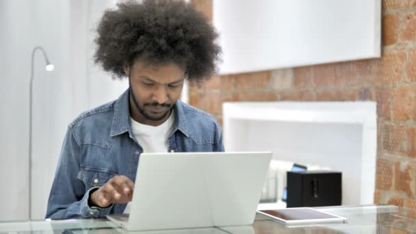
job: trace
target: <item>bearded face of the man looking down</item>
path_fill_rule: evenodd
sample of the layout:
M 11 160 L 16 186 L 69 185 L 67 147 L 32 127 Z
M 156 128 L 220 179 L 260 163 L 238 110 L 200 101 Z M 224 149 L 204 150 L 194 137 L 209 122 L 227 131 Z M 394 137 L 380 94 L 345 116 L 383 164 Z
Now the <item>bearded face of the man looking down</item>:
M 176 64 L 149 64 L 135 60 L 125 66 L 129 76 L 131 117 L 146 125 L 161 125 L 180 98 L 185 70 Z

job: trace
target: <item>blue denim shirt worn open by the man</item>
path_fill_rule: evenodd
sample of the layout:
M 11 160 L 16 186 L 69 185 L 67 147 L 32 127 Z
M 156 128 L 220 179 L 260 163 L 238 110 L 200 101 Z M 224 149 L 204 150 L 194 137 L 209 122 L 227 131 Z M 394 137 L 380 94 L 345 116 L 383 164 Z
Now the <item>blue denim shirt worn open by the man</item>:
M 177 101 L 168 152 L 224 151 L 222 132 L 211 115 Z M 90 192 L 115 175 L 135 181 L 143 152 L 132 133 L 129 90 L 119 99 L 83 112 L 68 126 L 46 218 L 103 218 L 123 213 L 127 204 L 88 206 Z

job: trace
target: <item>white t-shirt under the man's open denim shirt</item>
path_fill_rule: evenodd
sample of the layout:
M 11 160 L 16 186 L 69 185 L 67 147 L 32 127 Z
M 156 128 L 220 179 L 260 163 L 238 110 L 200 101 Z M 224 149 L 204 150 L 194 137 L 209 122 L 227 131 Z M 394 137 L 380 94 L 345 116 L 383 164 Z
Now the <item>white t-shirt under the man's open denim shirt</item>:
M 131 130 L 144 153 L 166 153 L 169 150 L 169 135 L 172 133 L 174 124 L 174 110 L 170 113 L 168 120 L 163 124 L 153 127 L 151 125 L 142 125 L 136 122 L 133 118 L 131 120 Z M 131 203 L 127 203 L 124 213 L 130 213 Z

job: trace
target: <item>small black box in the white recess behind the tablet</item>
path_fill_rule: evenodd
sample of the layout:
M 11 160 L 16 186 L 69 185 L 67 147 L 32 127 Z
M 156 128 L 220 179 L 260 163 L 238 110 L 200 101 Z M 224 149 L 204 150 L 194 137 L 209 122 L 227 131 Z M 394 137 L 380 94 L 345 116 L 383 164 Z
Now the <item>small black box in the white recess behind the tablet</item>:
M 341 172 L 287 172 L 287 207 L 341 205 Z

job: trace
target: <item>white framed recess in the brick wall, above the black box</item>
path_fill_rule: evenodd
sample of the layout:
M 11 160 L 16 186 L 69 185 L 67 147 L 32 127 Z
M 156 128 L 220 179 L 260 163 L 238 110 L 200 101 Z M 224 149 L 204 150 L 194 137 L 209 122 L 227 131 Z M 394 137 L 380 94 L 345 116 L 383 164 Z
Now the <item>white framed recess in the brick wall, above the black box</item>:
M 223 103 L 226 151 L 272 151 L 273 158 L 342 172 L 342 205 L 374 200 L 376 103 Z

